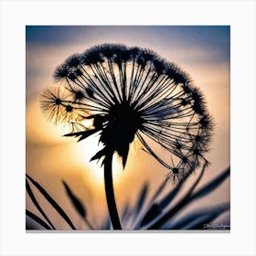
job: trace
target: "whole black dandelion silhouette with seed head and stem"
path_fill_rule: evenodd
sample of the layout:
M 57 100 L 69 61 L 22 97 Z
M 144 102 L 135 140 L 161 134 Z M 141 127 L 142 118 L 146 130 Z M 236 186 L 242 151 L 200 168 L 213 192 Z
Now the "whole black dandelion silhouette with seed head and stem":
M 166 168 L 173 181 L 208 164 L 205 153 L 212 118 L 204 96 L 174 63 L 145 48 L 104 44 L 74 54 L 54 72 L 56 85 L 42 93 L 41 107 L 53 123 L 65 123 L 79 142 L 100 136 L 107 204 L 113 229 L 122 229 L 112 186 L 112 155 L 125 167 L 130 144 L 139 139 L 144 151 Z M 85 122 L 87 121 L 87 122 Z M 88 124 L 88 121 L 91 121 Z M 155 151 L 158 144 L 168 154 Z

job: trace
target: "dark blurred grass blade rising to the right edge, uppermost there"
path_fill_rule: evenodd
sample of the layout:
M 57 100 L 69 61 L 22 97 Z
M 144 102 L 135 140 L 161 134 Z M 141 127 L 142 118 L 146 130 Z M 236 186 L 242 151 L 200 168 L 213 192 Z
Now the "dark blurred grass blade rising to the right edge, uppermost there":
M 210 193 L 211 191 L 219 187 L 219 185 L 229 176 L 229 174 L 230 174 L 230 168 L 225 170 L 222 174 L 220 174 L 213 181 L 209 182 L 206 186 L 200 188 L 191 197 L 194 199 L 194 198 L 204 197 L 208 195 L 208 193 Z

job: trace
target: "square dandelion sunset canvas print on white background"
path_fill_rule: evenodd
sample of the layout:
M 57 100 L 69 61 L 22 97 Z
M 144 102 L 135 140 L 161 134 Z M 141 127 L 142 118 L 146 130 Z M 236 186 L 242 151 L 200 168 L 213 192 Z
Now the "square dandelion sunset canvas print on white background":
M 229 26 L 26 27 L 26 229 L 230 229 Z

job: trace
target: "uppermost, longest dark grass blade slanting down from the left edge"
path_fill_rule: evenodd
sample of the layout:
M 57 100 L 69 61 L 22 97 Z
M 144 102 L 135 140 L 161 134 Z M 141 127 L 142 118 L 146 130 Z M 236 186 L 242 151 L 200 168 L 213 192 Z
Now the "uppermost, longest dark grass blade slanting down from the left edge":
M 65 211 L 59 207 L 59 204 L 52 197 L 48 195 L 48 192 L 43 187 L 41 187 L 37 183 L 37 181 L 35 181 L 32 177 L 28 176 L 27 174 L 26 176 L 34 184 L 34 186 L 37 187 L 37 189 L 41 192 L 41 194 L 48 200 L 48 202 L 52 205 L 52 207 L 59 212 L 59 215 L 66 220 L 66 222 L 69 224 L 69 227 L 71 229 L 76 229 L 72 221 L 69 219 L 68 215 L 65 213 Z

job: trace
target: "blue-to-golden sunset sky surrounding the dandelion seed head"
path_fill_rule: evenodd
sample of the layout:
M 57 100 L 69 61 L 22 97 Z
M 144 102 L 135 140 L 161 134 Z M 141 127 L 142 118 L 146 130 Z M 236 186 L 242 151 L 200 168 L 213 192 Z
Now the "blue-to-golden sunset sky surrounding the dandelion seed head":
M 207 155 L 211 165 L 202 184 L 229 166 L 229 27 L 28 26 L 27 174 L 45 187 L 81 228 L 80 218 L 71 208 L 61 180 L 65 180 L 85 203 L 89 219 L 100 225 L 102 216 L 107 212 L 103 171 L 96 163 L 89 163 L 91 156 L 97 153 L 98 138 L 92 137 L 76 144 L 73 138 L 62 137 L 66 131 L 44 118 L 39 94 L 53 84 L 52 73 L 64 59 L 102 43 L 151 48 L 186 70 L 204 92 L 208 111 L 216 124 L 211 150 Z M 139 144 L 133 146 L 124 171 L 115 161 L 113 179 L 119 209 L 123 208 L 127 200 L 133 202 L 144 182 L 148 182 L 154 191 L 154 187 L 168 173 L 165 167 L 140 148 Z M 196 177 L 197 174 L 191 180 Z M 173 187 L 171 183 L 170 187 Z M 210 200 L 202 199 L 200 204 L 210 206 L 228 200 L 229 180 L 212 193 Z M 28 199 L 27 208 L 35 211 Z M 45 208 L 48 208 L 47 204 Z M 53 219 L 58 223 L 54 211 L 48 208 L 48 212 L 53 214 Z

